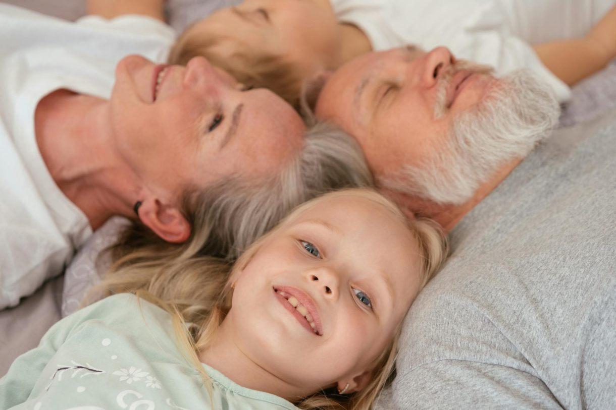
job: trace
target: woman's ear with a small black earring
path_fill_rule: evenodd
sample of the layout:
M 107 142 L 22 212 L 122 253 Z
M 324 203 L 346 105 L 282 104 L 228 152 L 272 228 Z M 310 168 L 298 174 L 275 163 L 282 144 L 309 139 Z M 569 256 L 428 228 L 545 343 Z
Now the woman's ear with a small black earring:
M 182 243 L 190 237 L 190 224 L 174 206 L 161 203 L 156 198 L 145 199 L 137 216 L 156 235 L 171 243 Z

